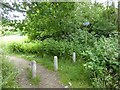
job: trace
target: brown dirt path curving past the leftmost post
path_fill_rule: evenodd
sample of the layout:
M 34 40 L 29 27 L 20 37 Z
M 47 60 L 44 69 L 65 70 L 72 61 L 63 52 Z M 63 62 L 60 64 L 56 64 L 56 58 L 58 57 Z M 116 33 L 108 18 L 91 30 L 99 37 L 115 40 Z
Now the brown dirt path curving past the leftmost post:
M 37 64 L 37 75 L 40 75 L 41 82 L 38 86 L 33 86 L 27 79 L 26 68 L 30 68 L 30 61 L 24 60 L 22 58 L 17 58 L 15 56 L 8 57 L 11 62 L 15 64 L 15 66 L 19 70 L 19 74 L 17 76 L 17 81 L 22 88 L 64 88 L 62 84 L 59 82 L 59 78 L 57 72 L 49 71 L 41 65 Z

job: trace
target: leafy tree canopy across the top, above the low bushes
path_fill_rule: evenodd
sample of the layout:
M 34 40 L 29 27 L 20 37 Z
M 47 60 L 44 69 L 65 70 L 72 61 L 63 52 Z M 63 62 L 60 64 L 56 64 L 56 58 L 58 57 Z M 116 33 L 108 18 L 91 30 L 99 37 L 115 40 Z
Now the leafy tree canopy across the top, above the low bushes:
M 97 3 L 32 2 L 27 6 L 27 18 L 18 25 L 30 39 L 68 39 L 71 34 L 79 33 L 78 30 L 85 30 L 84 22 L 90 23 L 87 31 L 94 31 L 98 36 L 107 37 L 117 27 L 114 5 L 105 8 Z

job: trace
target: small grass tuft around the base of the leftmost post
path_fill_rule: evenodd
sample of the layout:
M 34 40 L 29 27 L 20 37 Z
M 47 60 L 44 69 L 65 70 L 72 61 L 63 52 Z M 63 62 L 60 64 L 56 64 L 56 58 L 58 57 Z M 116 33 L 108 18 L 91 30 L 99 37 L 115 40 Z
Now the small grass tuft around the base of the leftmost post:
M 28 80 L 31 82 L 32 85 L 39 85 L 40 83 L 40 76 L 36 75 L 36 77 L 32 78 L 32 71 L 29 68 L 27 70 L 27 77 Z

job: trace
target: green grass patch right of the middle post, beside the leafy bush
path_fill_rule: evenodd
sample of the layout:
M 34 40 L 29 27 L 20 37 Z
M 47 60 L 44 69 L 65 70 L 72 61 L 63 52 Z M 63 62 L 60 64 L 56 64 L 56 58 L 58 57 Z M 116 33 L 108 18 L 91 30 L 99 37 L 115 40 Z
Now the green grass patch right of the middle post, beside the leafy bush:
M 84 69 L 82 60 L 76 63 L 72 60 L 60 60 L 59 63 L 59 76 L 65 85 L 71 82 L 73 88 L 90 87 L 89 72 Z

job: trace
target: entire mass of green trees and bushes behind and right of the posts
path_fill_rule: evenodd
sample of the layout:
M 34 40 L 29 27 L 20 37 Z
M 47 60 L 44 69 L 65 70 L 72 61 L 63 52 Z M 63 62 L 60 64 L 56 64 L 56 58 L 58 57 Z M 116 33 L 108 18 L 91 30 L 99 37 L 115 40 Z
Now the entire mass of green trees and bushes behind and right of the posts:
M 10 51 L 66 60 L 76 52 L 91 73 L 93 87 L 120 88 L 114 3 L 104 7 L 98 3 L 26 2 L 23 7 L 27 17 L 15 27 L 29 40 L 11 43 Z

